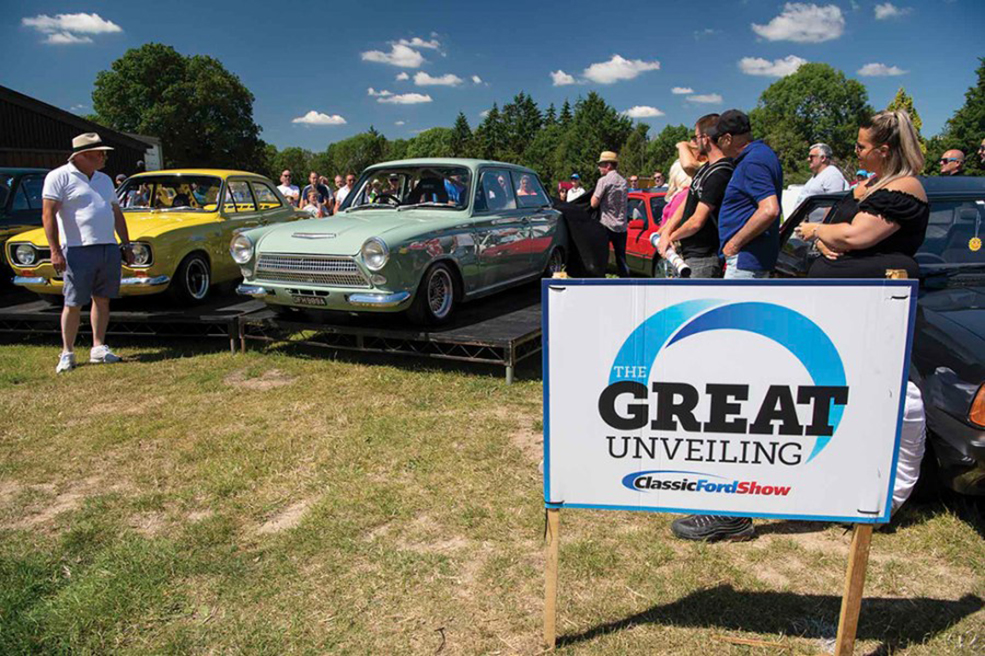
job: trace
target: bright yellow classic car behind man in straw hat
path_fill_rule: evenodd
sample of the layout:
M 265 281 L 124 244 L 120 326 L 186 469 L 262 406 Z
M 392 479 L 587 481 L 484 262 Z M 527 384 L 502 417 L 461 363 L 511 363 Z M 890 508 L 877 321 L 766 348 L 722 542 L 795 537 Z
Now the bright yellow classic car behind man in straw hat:
M 121 296 L 168 292 L 179 302 L 201 302 L 214 285 L 240 278 L 229 257 L 239 231 L 309 216 L 270 180 L 243 171 L 141 173 L 117 193 L 134 254 L 133 265 L 123 265 Z M 14 284 L 61 302 L 62 279 L 51 266 L 43 228 L 18 234 L 4 251 Z

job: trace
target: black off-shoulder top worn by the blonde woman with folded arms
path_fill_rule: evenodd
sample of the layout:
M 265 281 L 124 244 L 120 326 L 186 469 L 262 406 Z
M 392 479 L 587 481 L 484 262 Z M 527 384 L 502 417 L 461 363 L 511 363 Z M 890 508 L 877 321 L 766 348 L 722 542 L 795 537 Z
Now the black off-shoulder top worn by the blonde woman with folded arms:
M 819 258 L 811 265 L 814 278 L 882 278 L 886 269 L 906 269 L 911 278 L 920 275 L 913 256 L 923 244 L 930 218 L 930 205 L 912 194 L 879 189 L 861 203 L 853 194 L 831 210 L 829 223 L 851 223 L 860 212 L 881 216 L 899 225 L 899 230 L 869 248 L 849 251 L 837 260 Z

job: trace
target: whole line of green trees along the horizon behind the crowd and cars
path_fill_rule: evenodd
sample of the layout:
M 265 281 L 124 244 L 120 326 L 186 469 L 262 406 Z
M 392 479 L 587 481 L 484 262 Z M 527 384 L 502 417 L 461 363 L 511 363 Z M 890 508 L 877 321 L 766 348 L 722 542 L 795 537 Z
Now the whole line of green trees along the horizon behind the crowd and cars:
M 977 85 L 941 134 L 922 139 L 925 173 L 936 175 L 937 159 L 949 148 L 967 156 L 967 175 L 985 170 L 975 151 L 985 136 L 985 58 L 979 60 Z M 692 125 L 668 125 L 649 134 L 596 92 L 541 108 L 524 92 L 502 106 L 494 104 L 473 128 L 459 113 L 451 127 L 425 130 L 410 139 L 388 139 L 375 128 L 313 152 L 277 149 L 260 139 L 253 120 L 253 94 L 222 64 L 202 55 L 186 57 L 162 44 L 127 51 L 111 69 L 97 75 L 92 118 L 117 130 L 160 137 L 165 165 L 211 166 L 264 173 L 278 179 L 290 169 L 306 177 L 359 173 L 371 164 L 415 157 L 474 157 L 528 166 L 550 186 L 579 173 L 587 185 L 598 177 L 595 161 L 603 150 L 620 154 L 620 170 L 648 176 L 665 173 L 677 158 L 676 144 L 689 138 Z M 900 88 L 889 109 L 906 109 L 918 129 L 913 99 Z M 695 110 L 694 119 L 703 112 Z M 836 163 L 854 171 L 859 123 L 873 113 L 865 86 L 827 64 L 804 64 L 770 85 L 748 111 L 753 131 L 777 151 L 787 183 L 810 177 L 807 152 L 824 142 Z

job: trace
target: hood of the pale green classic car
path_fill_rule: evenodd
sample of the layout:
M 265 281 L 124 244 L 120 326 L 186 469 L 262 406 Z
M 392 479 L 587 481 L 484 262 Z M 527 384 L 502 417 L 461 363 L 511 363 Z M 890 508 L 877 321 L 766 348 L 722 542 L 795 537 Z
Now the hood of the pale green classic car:
M 380 237 L 393 247 L 404 239 L 444 225 L 461 222 L 461 213 L 421 210 L 359 210 L 326 219 L 306 219 L 275 226 L 260 238 L 260 252 L 355 255 L 370 237 Z

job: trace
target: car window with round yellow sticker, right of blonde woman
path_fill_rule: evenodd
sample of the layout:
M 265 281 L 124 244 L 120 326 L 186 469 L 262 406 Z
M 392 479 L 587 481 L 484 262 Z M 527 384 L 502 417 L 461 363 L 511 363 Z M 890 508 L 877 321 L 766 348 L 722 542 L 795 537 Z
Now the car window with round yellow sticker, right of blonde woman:
M 985 264 L 985 198 L 931 201 L 927 235 L 917 251 L 921 267 Z

